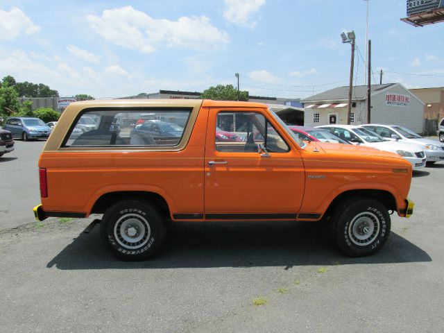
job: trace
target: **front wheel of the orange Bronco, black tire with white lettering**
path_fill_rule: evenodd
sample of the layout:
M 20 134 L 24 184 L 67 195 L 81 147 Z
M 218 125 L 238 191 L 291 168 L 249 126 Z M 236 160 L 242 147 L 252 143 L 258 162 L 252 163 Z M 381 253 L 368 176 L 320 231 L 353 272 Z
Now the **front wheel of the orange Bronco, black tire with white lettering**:
M 332 236 L 345 255 L 365 257 L 384 246 L 391 220 L 386 207 L 364 196 L 350 198 L 336 208 Z

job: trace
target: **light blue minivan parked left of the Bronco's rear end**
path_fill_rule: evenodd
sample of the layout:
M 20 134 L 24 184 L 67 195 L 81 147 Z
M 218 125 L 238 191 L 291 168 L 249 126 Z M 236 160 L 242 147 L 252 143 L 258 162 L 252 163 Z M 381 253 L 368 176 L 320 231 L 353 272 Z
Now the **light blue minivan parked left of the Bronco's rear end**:
M 3 126 L 9 130 L 12 137 L 28 141 L 29 139 L 46 139 L 51 134 L 51 128 L 41 119 L 31 117 L 10 117 Z

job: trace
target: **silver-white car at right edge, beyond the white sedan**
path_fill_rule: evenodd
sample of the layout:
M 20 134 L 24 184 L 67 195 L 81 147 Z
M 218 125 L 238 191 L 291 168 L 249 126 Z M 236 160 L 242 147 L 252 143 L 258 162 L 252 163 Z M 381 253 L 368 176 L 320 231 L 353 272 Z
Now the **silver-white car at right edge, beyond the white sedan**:
M 372 130 L 377 133 L 377 135 L 384 137 L 384 139 L 389 141 L 416 144 L 420 146 L 422 151 L 425 152 L 427 164 L 444 161 L 444 144 L 421 137 L 407 127 L 398 125 L 380 125 L 378 123 L 369 123 L 368 125 L 361 125 L 361 127 Z

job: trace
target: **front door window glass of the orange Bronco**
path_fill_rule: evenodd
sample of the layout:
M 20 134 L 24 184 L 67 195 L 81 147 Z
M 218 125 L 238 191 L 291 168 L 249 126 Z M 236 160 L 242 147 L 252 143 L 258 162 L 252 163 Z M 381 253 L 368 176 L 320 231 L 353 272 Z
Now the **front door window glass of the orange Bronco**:
M 219 112 L 216 118 L 216 150 L 257 152 L 263 144 L 269 152 L 284 153 L 289 146 L 258 112 Z

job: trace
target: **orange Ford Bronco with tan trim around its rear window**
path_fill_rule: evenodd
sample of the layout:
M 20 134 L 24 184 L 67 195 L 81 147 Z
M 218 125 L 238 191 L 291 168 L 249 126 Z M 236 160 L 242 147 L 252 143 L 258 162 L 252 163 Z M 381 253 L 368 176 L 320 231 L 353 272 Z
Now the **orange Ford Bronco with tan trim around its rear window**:
M 343 253 L 370 255 L 390 233 L 389 214 L 413 211 L 402 157 L 301 142 L 260 103 L 72 103 L 39 167 L 36 218 L 103 214 L 103 243 L 129 260 L 160 248 L 167 219 L 323 220 Z

